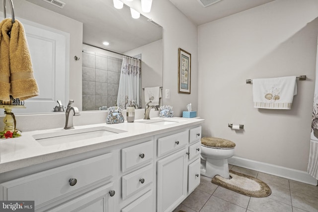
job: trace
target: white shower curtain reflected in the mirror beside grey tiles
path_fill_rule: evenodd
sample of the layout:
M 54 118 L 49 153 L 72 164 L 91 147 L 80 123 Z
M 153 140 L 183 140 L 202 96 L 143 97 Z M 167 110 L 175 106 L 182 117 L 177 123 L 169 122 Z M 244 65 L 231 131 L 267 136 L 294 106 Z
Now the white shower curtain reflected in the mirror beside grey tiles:
M 117 106 L 125 109 L 130 100 L 141 105 L 141 60 L 124 56 L 120 71 Z

